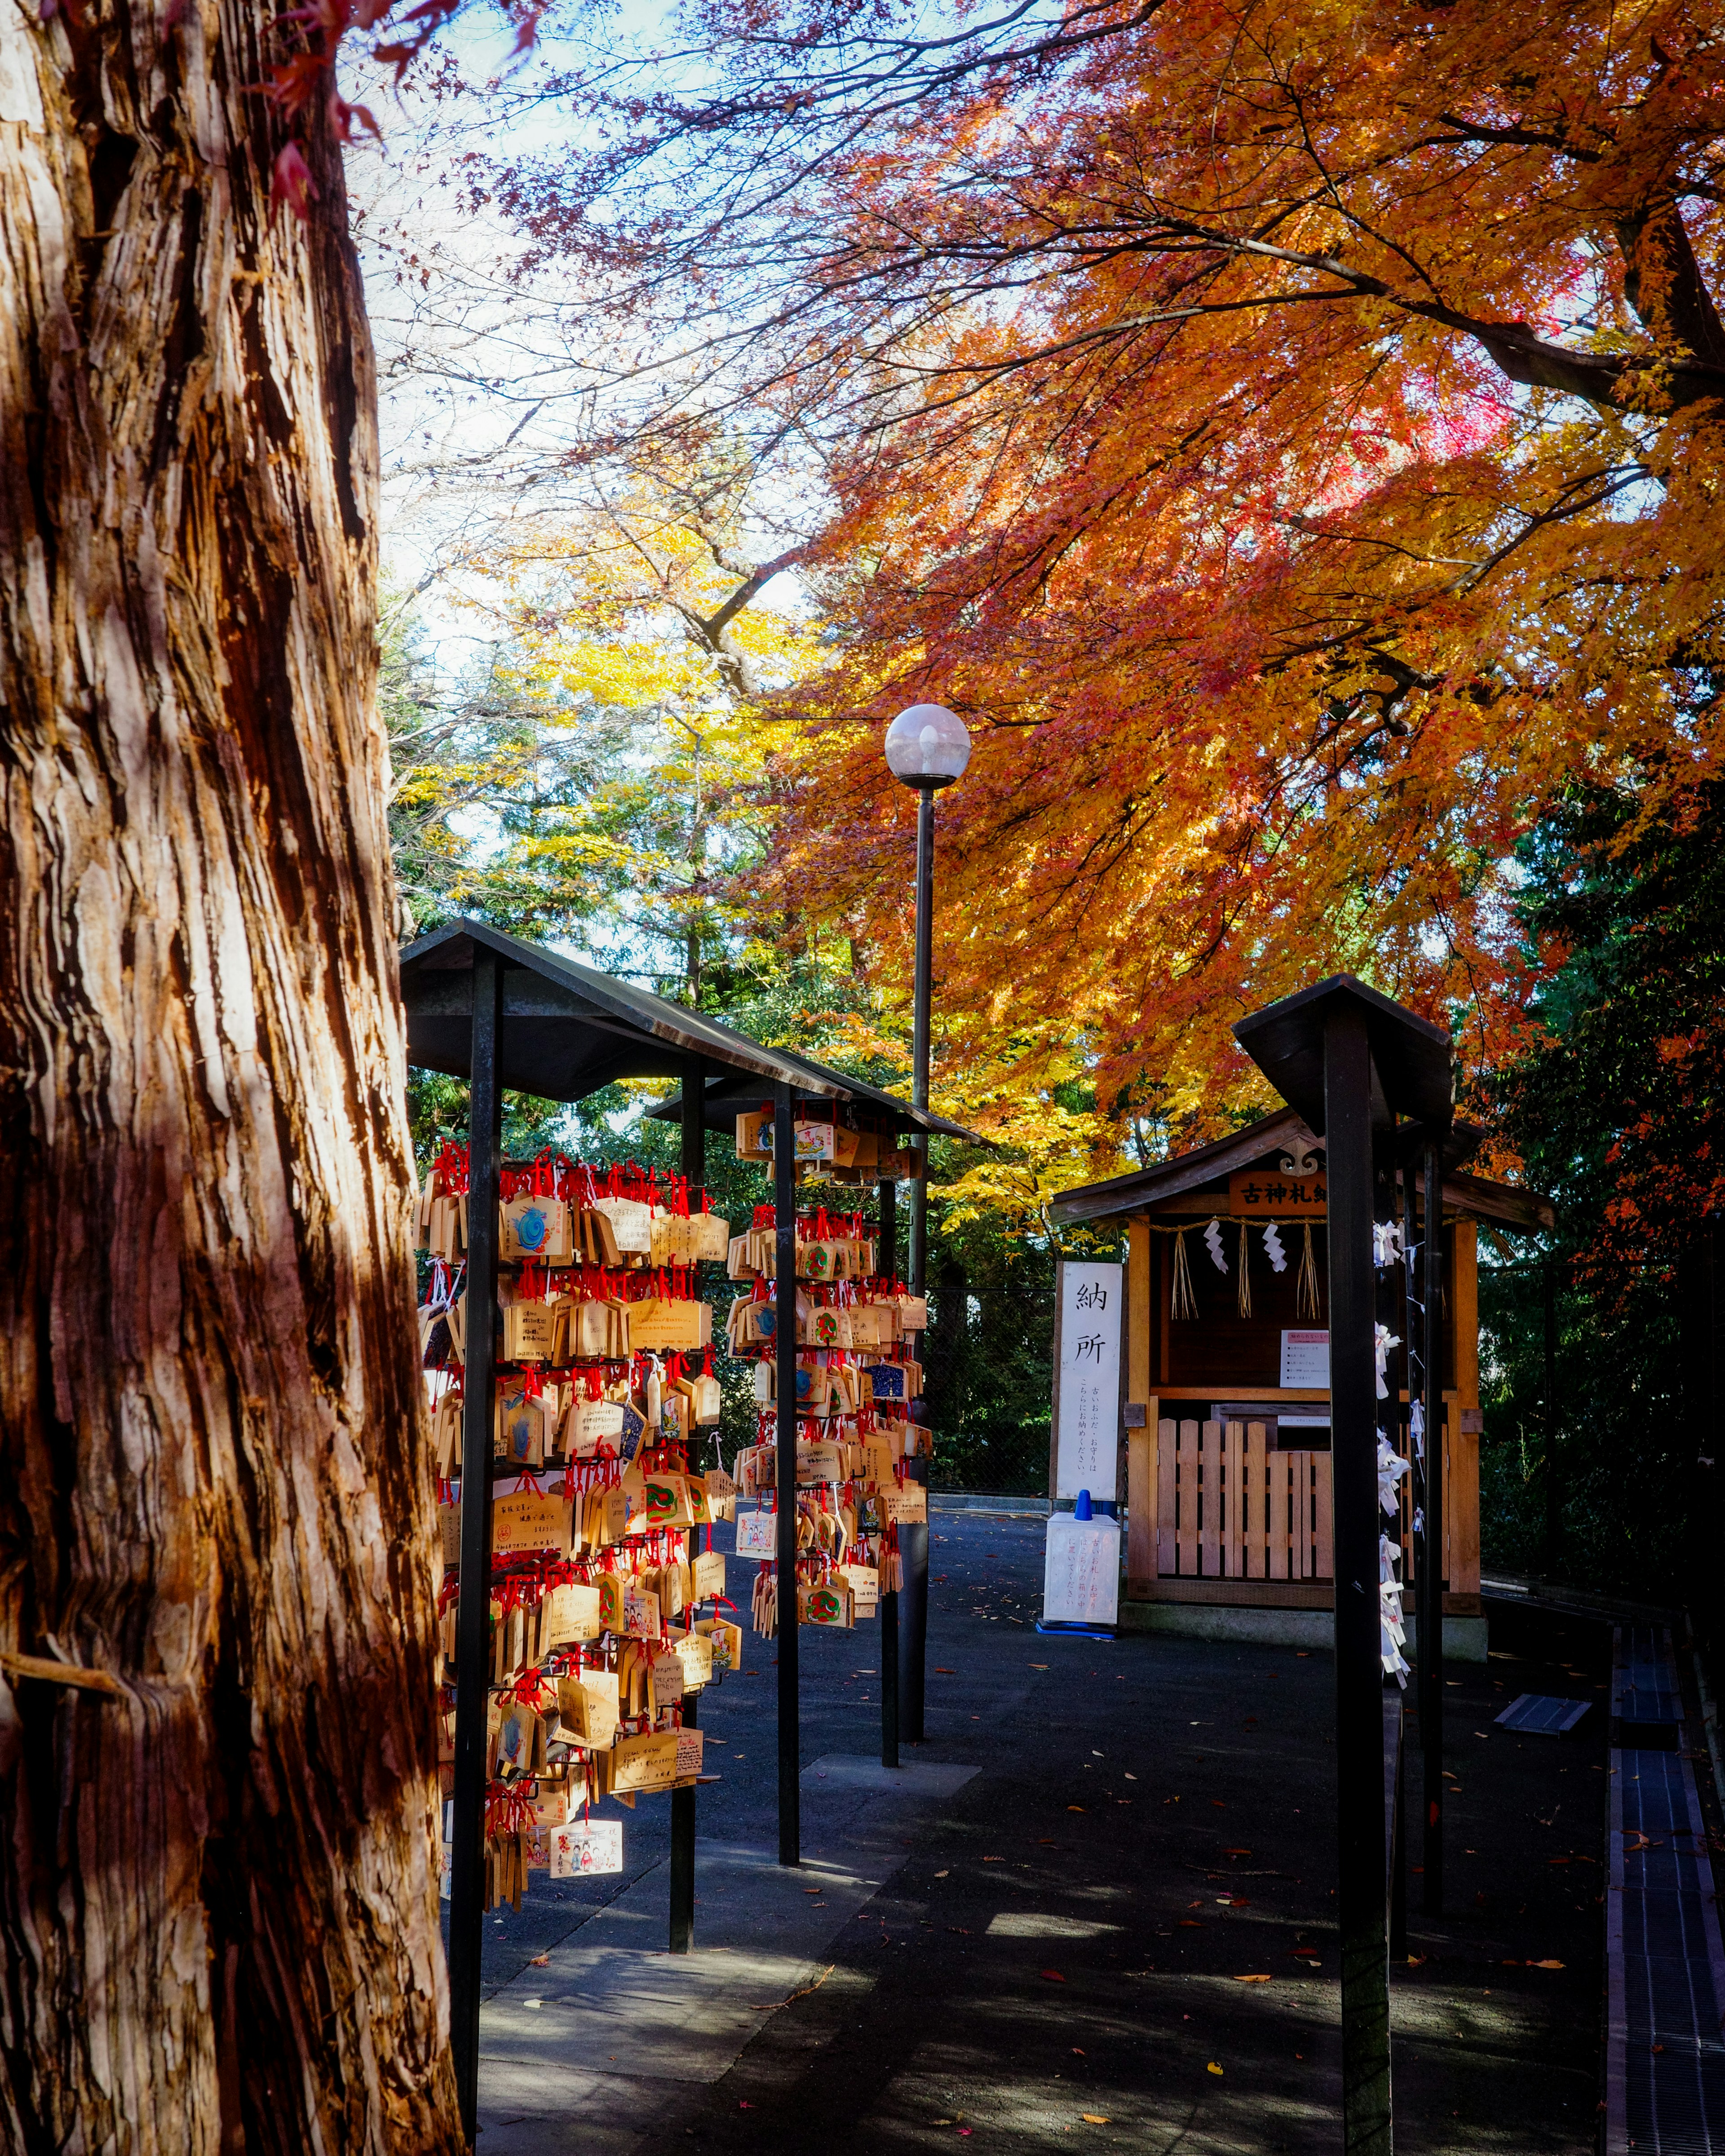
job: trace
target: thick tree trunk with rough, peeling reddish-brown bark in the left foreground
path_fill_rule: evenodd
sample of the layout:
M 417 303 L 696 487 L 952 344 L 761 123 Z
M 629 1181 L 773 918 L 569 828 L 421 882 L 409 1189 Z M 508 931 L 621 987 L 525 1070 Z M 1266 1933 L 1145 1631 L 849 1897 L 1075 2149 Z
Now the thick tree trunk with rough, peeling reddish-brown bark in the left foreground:
M 0 2143 L 420 2156 L 459 2132 L 339 151 L 272 224 L 274 4 L 43 13 L 0 0 Z

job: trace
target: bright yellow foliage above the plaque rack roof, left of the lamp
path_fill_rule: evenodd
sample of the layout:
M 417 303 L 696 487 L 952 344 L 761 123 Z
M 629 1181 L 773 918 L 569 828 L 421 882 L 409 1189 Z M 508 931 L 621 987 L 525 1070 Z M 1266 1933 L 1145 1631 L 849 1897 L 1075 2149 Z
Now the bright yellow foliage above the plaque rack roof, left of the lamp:
M 498 655 L 453 724 L 401 733 L 399 860 L 412 841 L 418 862 L 459 862 L 446 897 L 541 936 L 604 918 L 608 944 L 699 996 L 705 955 L 759 912 L 727 875 L 763 847 L 761 696 L 817 653 L 757 604 L 740 520 L 724 470 L 643 461 L 610 500 L 470 556 L 464 604 Z

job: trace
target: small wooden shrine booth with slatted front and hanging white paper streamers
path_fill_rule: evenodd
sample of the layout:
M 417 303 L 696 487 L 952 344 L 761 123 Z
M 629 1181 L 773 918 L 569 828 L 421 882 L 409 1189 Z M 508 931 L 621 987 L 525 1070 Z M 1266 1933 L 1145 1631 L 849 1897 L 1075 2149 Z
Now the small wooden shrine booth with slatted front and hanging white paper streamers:
M 1324 1145 L 1294 1108 L 1175 1160 L 1065 1190 L 1061 1229 L 1126 1231 L 1121 1623 L 1330 1643 Z M 1423 1194 L 1414 1179 L 1423 1233 Z M 1445 1654 L 1486 1656 L 1479 1600 L 1479 1222 L 1552 1225 L 1546 1199 L 1443 1177 Z M 1406 1399 L 1389 1350 L 1386 1382 Z M 1406 1410 L 1393 1416 L 1406 1451 Z M 1412 1535 L 1402 1479 L 1402 1539 Z M 1404 1563 L 1404 1578 L 1408 1565 Z M 1410 1598 L 1408 1598 L 1408 1606 Z

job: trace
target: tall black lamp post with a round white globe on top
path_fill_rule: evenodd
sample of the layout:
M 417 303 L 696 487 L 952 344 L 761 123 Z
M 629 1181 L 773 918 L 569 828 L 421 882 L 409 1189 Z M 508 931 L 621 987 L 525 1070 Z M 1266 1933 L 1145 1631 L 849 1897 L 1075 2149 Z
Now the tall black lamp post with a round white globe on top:
M 934 1000 L 934 796 L 964 776 L 970 761 L 970 729 L 940 703 L 912 703 L 886 729 L 886 768 L 899 785 L 916 789 L 916 1000 L 912 1018 L 910 1100 L 916 1108 L 929 1104 L 929 1003 Z M 927 1294 L 929 1257 L 929 1138 L 925 1130 L 912 1141 L 919 1173 L 910 1181 L 910 1291 Z M 927 1481 L 927 1460 L 919 1460 Z M 912 1744 L 923 1740 L 923 1677 L 929 1630 L 929 1531 L 899 1526 L 903 1559 L 903 1654 L 899 1662 L 899 1733 Z M 897 1628 L 897 1595 L 882 1595 L 882 1639 Z

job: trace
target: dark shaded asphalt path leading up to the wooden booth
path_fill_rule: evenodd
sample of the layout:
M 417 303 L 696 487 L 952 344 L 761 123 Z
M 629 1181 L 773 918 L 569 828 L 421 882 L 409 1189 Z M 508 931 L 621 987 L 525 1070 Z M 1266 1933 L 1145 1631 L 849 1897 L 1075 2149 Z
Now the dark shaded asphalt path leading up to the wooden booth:
M 1041 1533 L 936 1514 L 927 1742 L 906 1757 L 977 1774 L 906 1809 L 901 1867 L 817 1979 L 643 2145 L 1339 2145 L 1333 1662 L 1039 1634 Z M 748 1570 L 731 1565 L 744 1608 Z M 804 1766 L 878 1755 L 878 1636 L 804 1630 Z M 1600 2098 L 1604 1708 L 1565 1740 L 1494 1716 L 1520 1690 L 1602 1701 L 1609 1632 L 1499 1608 L 1492 1647 L 1447 1669 L 1449 1904 L 1425 1919 L 1414 1876 L 1397 2147 L 1581 2156 Z M 772 1658 L 750 1634 L 742 1675 L 701 1703 L 722 1774 L 701 1835 L 729 1846 L 776 1837 Z M 623 1839 L 623 1880 L 535 1874 L 520 1912 L 487 1919 L 487 1990 L 662 1867 L 668 1800 L 625 1813 Z M 696 1902 L 696 1945 L 699 1925 Z

